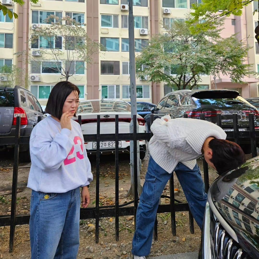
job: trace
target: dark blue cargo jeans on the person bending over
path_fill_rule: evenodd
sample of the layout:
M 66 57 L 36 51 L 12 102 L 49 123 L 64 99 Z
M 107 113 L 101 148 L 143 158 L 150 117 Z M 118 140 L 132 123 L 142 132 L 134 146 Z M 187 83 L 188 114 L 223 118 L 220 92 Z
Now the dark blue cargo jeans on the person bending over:
M 207 194 L 200 169 L 197 164 L 191 170 L 179 162 L 174 171 L 183 188 L 191 213 L 199 227 L 202 228 Z M 147 256 L 150 253 L 160 196 L 171 175 L 150 156 L 136 213 L 136 230 L 131 250 L 133 255 Z

